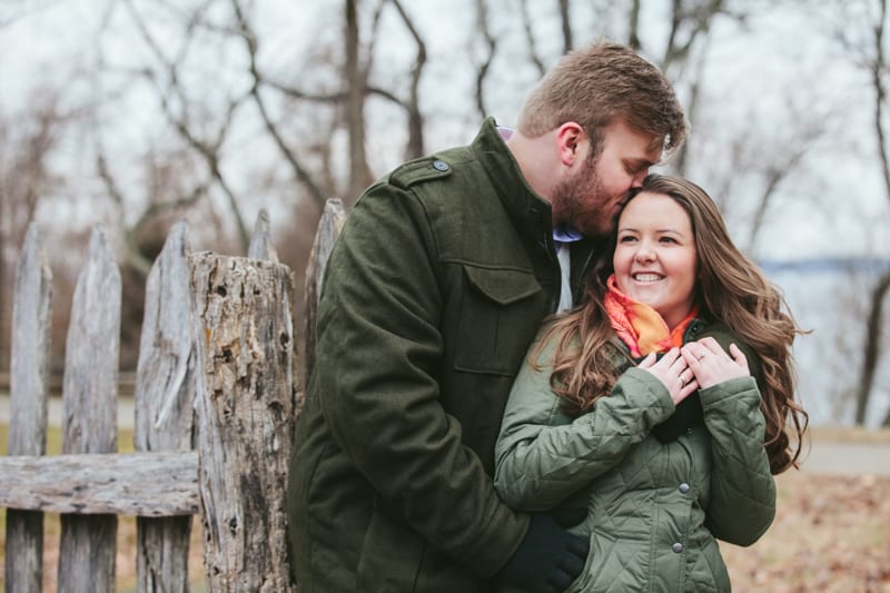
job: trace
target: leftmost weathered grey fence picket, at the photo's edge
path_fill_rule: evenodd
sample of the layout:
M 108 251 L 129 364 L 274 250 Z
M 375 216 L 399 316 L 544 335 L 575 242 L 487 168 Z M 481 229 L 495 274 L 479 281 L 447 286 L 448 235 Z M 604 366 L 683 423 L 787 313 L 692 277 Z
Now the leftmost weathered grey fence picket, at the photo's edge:
M 24 237 L 12 300 L 9 363 L 10 455 L 47 452 L 47 397 L 52 271 L 31 224 Z M 43 582 L 43 513 L 7 511 L 7 593 L 37 593 Z

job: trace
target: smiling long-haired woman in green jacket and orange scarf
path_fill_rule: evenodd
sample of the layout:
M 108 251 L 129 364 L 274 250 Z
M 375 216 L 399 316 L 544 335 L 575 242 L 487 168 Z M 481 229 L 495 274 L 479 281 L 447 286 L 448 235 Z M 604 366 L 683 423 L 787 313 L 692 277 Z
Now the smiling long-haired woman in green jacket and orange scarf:
M 772 475 L 800 454 L 800 329 L 684 179 L 645 179 L 600 267 L 516 377 L 498 494 L 523 511 L 585 501 L 575 532 L 591 548 L 571 592 L 730 591 L 715 540 L 767 531 Z

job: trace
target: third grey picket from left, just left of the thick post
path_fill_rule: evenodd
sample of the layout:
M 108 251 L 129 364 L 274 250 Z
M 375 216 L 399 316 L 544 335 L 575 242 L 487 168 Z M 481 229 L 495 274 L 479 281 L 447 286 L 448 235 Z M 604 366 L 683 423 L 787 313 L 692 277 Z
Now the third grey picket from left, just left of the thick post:
M 136 368 L 134 446 L 190 451 L 195 428 L 188 226 L 176 224 L 146 281 Z M 188 591 L 191 515 L 137 517 L 137 592 Z

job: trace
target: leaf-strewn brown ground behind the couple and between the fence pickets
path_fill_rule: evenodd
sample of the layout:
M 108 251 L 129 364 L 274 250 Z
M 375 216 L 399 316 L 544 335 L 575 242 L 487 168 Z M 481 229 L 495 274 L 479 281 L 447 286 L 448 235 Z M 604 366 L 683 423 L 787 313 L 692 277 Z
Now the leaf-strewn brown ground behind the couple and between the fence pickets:
M 0 454 L 6 454 L 0 423 Z M 55 432 L 53 432 L 55 435 Z M 58 447 L 55 436 L 50 452 Z M 131 441 L 123 433 L 119 443 Z M 750 547 L 721 544 L 735 593 L 890 593 L 890 431 L 813 431 L 802 470 L 777 477 L 777 517 Z M 0 556 L 6 540 L 0 510 Z M 204 591 L 200 526 L 191 550 L 191 591 Z M 47 515 L 43 591 L 56 591 L 59 520 Z M 118 530 L 119 592 L 135 591 L 136 521 Z M 3 583 L 0 563 L 0 585 Z

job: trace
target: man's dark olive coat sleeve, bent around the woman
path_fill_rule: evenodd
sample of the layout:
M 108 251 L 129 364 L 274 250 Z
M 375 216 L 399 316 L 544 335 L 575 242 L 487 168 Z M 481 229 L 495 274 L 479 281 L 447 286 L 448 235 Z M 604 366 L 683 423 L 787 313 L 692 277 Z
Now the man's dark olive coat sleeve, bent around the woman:
M 488 575 L 512 555 L 527 517 L 501 502 L 442 406 L 443 303 L 429 228 L 406 189 L 378 184 L 358 201 L 328 261 L 313 380 L 375 504 Z

